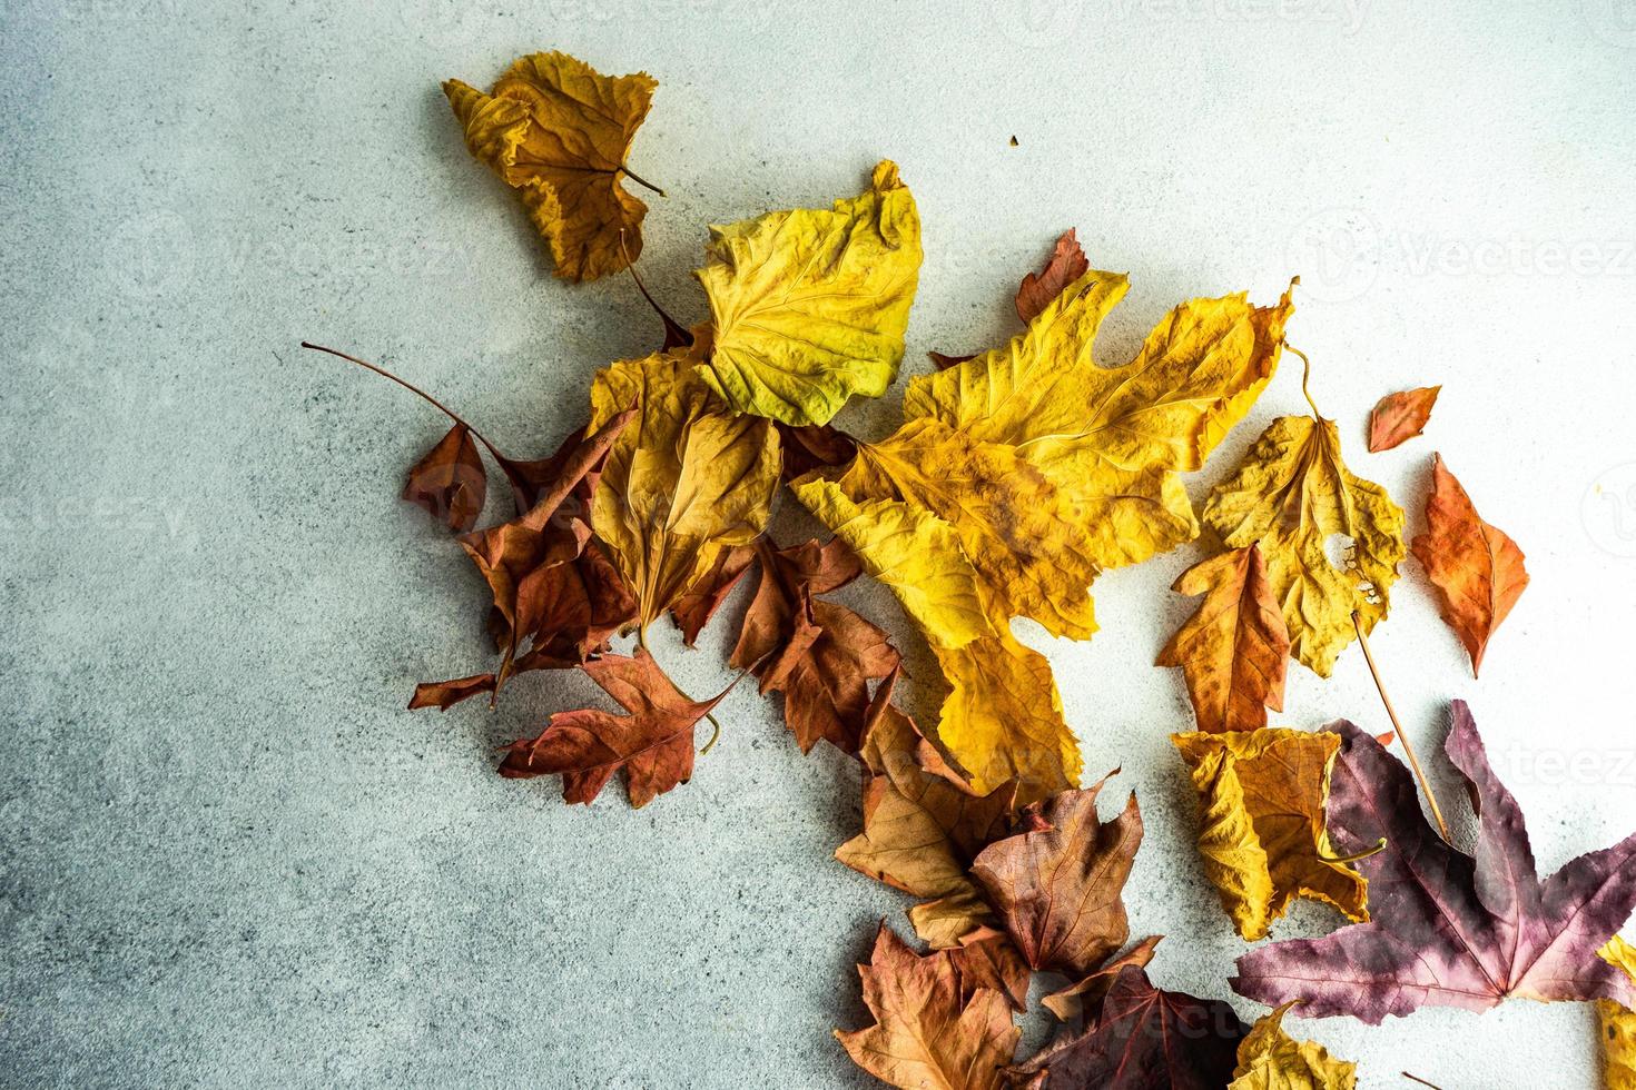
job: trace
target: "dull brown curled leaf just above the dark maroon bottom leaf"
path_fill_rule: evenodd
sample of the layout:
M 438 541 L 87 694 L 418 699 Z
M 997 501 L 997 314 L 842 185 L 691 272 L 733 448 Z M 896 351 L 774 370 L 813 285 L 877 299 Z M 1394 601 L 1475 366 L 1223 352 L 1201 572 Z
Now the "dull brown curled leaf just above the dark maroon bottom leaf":
M 988 845 L 972 864 L 1034 969 L 1088 974 L 1129 935 L 1121 892 L 1142 843 L 1142 814 L 1132 793 L 1119 817 L 1098 820 L 1104 783 L 1029 807 L 1032 829 Z

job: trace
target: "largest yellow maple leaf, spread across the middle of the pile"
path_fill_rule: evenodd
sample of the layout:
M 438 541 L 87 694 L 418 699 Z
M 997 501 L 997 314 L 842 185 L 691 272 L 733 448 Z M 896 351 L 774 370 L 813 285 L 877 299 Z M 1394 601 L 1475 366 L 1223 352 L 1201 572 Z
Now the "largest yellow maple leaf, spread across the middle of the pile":
M 1266 386 L 1292 309 L 1288 294 L 1273 307 L 1194 299 L 1134 361 L 1099 368 L 1096 330 L 1126 288 L 1117 273 L 1080 276 L 1006 346 L 911 382 L 897 435 L 861 443 L 833 480 L 818 471 L 795 482 L 870 574 L 890 572 L 883 582 L 937 650 L 952 688 L 937 734 L 980 791 L 1018 780 L 1029 801 L 1078 783 L 1050 667 L 1011 636 L 1011 618 L 1085 639 L 1101 570 L 1198 533 L 1178 472 L 1198 469 Z M 903 538 L 869 520 L 903 525 L 908 511 L 919 511 L 921 544 L 883 556 L 874 538 Z M 959 629 L 926 608 L 929 583 L 947 585 L 951 570 L 970 575 L 987 631 L 969 608 L 952 614 Z

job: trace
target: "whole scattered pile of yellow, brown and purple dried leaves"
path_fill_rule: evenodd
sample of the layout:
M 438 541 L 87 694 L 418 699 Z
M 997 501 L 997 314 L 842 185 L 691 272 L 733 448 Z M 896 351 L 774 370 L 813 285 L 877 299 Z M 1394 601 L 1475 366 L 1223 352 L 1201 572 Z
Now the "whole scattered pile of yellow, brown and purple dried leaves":
M 471 154 L 517 190 L 564 279 L 622 271 L 641 253 L 648 209 L 623 181 L 648 185 L 627 155 L 654 87 L 564 54 L 517 60 L 489 93 L 443 87 Z M 937 371 L 910 381 L 893 435 L 849 436 L 829 420 L 893 386 L 919 265 L 915 198 L 882 162 L 862 193 L 828 209 L 712 227 L 697 273 L 708 320 L 687 328 L 661 312 L 659 348 L 602 369 L 586 427 L 550 458 L 510 459 L 422 394 L 453 427 L 409 471 L 404 498 L 455 531 L 488 580 L 497 662 L 420 685 L 411 706 L 494 703 L 519 673 L 582 670 L 623 714 L 553 714 L 507 747 L 499 771 L 561 776 L 569 802 L 591 802 L 623 771 L 643 806 L 689 780 L 700 724 L 723 696 L 682 693 L 648 654 L 648 626 L 669 614 L 692 646 L 754 572 L 730 663 L 782 693 L 803 752 L 828 742 L 856 755 L 864 827 L 836 856 L 910 894 L 928 946 L 916 953 L 882 925 L 862 966 L 875 1023 L 838 1033 L 882 1080 L 1351 1087 L 1353 1065 L 1292 1039 L 1286 1013 L 1378 1023 L 1523 995 L 1598 1000 L 1610 1082 L 1636 1085 L 1636 953 L 1616 936 L 1636 905 L 1636 837 L 1541 881 L 1517 802 L 1459 703 L 1446 752 L 1479 822 L 1472 855 L 1422 817 L 1415 778 L 1386 752 L 1394 735 L 1266 719 L 1283 709 L 1291 657 L 1327 677 L 1348 644 L 1368 654 L 1409 552 L 1476 672 L 1528 583 L 1517 544 L 1479 518 L 1440 458 L 1427 533 L 1405 544 L 1402 508 L 1353 476 L 1315 405 L 1274 420 L 1196 513 L 1180 474 L 1204 466 L 1271 379 L 1292 293 L 1271 306 L 1243 294 L 1183 302 L 1135 360 L 1103 368 L 1096 330 L 1127 281 L 1090 268 L 1072 230 L 1022 278 L 1008 343 L 934 353 Z M 1382 399 L 1369 449 L 1420 435 L 1436 394 Z M 515 518 L 474 529 L 484 451 Z M 828 541 L 767 534 L 785 485 Z M 1088 639 L 1096 577 L 1199 538 L 1201 523 L 1216 552 L 1176 582 L 1201 605 L 1158 659 L 1181 668 L 1196 713 L 1198 729 L 1175 744 L 1199 794 L 1201 864 L 1245 940 L 1265 938 L 1296 897 L 1351 920 L 1238 959 L 1232 989 L 1273 1005 L 1255 1026 L 1220 1000 L 1148 981 L 1158 938 L 1130 943 L 1122 900 L 1142 843 L 1137 799 L 1104 820 L 1108 780 L 1078 788 L 1050 665 L 1011 634 L 1013 618 L 1032 618 Z M 942 667 L 934 726 L 893 704 L 888 634 L 826 596 L 865 574 L 897 595 Z M 610 650 L 625 632 L 633 655 Z M 1014 1018 L 1034 972 L 1050 974 L 1042 1003 L 1065 1028 L 1018 1062 Z

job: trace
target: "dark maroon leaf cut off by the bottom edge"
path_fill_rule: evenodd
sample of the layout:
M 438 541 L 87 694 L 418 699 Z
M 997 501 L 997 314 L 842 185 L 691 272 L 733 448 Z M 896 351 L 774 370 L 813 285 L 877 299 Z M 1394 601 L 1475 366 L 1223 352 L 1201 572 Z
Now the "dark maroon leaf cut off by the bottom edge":
M 1232 1079 L 1245 1033 L 1227 1003 L 1158 990 L 1127 966 L 1093 1026 L 1006 1074 L 1027 1090 L 1216 1090 Z

